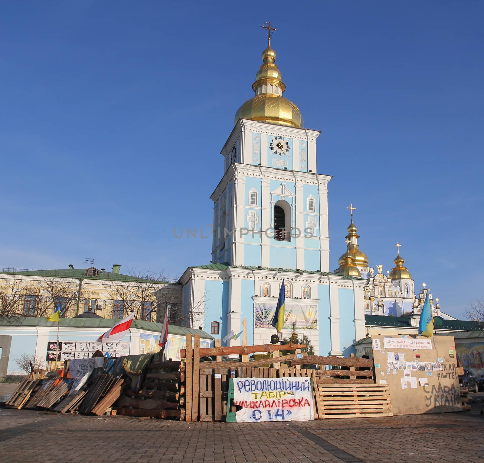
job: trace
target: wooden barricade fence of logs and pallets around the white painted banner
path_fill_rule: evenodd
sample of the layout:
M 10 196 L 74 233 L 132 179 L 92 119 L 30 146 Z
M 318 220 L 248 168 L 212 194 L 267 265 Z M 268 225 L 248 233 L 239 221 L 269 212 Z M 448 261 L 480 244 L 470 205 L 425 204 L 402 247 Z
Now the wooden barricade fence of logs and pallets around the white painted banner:
M 191 334 L 187 334 L 186 339 L 184 405 L 187 421 L 225 421 L 227 411 L 235 412 L 235 407 L 228 403 L 229 381 L 230 378 L 238 377 L 311 378 L 316 419 L 391 416 L 388 389 L 384 385 L 375 384 L 372 360 L 308 356 L 306 353 L 298 353 L 305 346 L 294 344 L 238 347 L 215 345 L 202 349 L 197 335 L 192 349 Z M 283 350 L 293 350 L 296 353 L 280 356 Z M 272 352 L 273 357 L 253 362 L 222 362 L 222 355 L 239 354 L 243 359 L 243 356 L 254 352 Z M 217 360 L 203 361 L 201 358 L 204 356 L 216 357 Z M 333 397 L 338 397 L 338 400 Z

